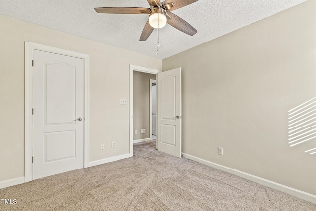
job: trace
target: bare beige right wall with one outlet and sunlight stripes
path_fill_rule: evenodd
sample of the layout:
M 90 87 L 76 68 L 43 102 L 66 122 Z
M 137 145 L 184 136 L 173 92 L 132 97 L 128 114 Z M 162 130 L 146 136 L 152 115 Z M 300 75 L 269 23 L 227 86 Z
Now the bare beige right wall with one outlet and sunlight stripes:
M 182 67 L 184 153 L 316 195 L 316 140 L 289 147 L 288 111 L 316 97 L 316 1 L 162 60 Z M 217 154 L 224 148 L 224 156 Z

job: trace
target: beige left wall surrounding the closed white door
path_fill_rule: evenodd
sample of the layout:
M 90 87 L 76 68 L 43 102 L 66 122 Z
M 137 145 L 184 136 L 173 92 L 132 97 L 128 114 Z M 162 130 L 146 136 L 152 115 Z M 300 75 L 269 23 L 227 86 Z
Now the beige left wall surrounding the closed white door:
M 24 176 L 25 41 L 90 55 L 90 161 L 129 153 L 129 107 L 119 104 L 129 64 L 161 70 L 160 59 L 1 15 L 0 26 L 0 181 Z

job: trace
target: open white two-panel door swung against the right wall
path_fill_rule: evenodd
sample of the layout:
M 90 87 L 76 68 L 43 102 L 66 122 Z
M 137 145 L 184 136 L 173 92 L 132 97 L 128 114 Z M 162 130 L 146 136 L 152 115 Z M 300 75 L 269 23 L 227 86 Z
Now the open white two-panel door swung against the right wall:
M 158 151 L 181 158 L 181 68 L 157 74 Z

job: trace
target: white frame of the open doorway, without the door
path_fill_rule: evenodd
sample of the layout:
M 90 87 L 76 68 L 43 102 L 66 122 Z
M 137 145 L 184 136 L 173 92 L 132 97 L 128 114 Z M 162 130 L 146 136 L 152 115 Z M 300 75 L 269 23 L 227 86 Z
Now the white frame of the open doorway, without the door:
M 137 65 L 129 65 L 129 154 L 133 157 L 133 71 L 150 73 L 157 75 L 162 72 L 161 70 L 156 70 L 147 67 L 141 67 Z M 157 138 L 156 138 L 157 142 Z

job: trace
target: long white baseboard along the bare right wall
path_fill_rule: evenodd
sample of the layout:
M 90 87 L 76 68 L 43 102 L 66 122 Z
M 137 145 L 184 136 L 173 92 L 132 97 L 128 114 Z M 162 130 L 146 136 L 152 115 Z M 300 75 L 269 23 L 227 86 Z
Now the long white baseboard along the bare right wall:
M 304 192 L 301 190 L 297 190 L 297 189 L 294 189 L 294 188 L 291 188 L 291 187 L 288 187 L 288 186 L 285 186 L 285 185 L 282 185 L 282 184 L 279 184 L 279 183 L 276 183 L 276 182 L 273 182 L 273 181 L 270 181 L 270 180 L 267 180 L 267 179 L 264 179 L 264 178 L 261 178 L 258 176 L 254 176 L 252 174 L 245 173 L 245 172 L 242 172 L 240 170 L 232 169 L 232 168 L 229 168 L 229 167 L 226 167 L 226 166 L 223 166 L 220 164 L 216 164 L 216 163 L 213 163 L 213 162 L 201 159 L 201 158 L 197 158 L 195 156 L 188 155 L 186 153 L 182 153 L 182 155 L 183 155 L 183 157 L 188 158 L 190 160 L 194 160 L 194 161 L 197 161 L 199 163 L 205 164 L 207 166 L 210 166 L 210 167 L 213 167 L 216 169 L 220 169 L 220 170 L 226 171 L 226 172 L 231 173 L 231 174 L 235 174 L 237 176 L 248 179 L 250 181 L 259 183 L 261 185 L 265 185 L 265 186 L 273 188 L 275 190 L 282 191 L 282 192 L 287 193 L 289 195 L 292 195 L 292 196 L 295 196 L 295 197 L 298 197 L 300 199 L 304 199 L 306 201 L 309 201 L 309 202 L 316 204 L 316 195 L 313 195 L 313 194 L 310 194 L 310 193 L 307 193 L 307 192 Z

